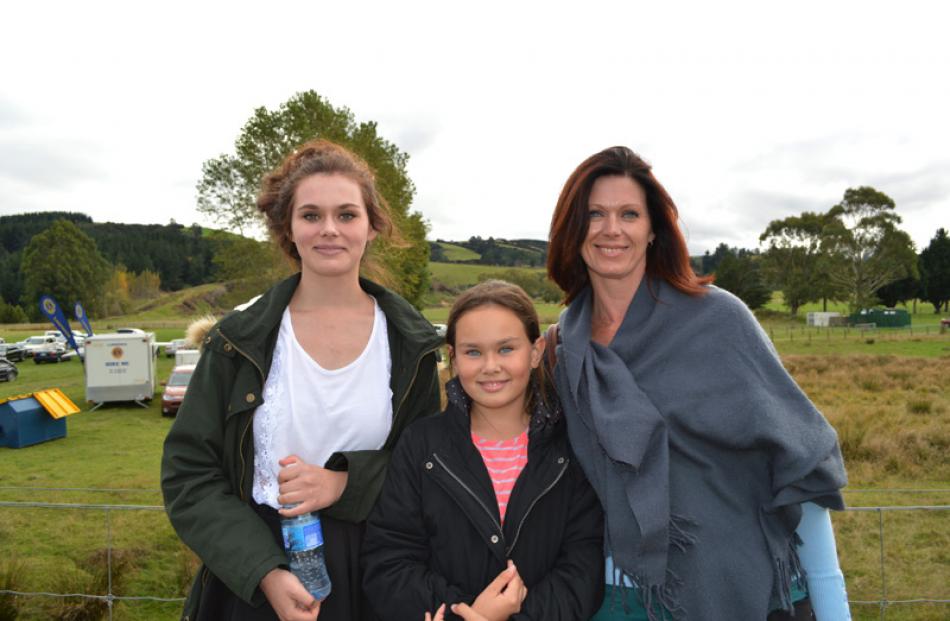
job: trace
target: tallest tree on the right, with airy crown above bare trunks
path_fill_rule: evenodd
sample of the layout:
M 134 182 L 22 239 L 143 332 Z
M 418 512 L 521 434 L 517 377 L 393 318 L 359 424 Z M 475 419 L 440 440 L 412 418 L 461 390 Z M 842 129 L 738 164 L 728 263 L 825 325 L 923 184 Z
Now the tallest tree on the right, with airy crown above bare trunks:
M 917 253 L 898 228 L 894 200 L 869 186 L 849 188 L 828 211 L 823 246 L 832 261 L 828 276 L 847 292 L 852 311 L 873 306 L 875 292 L 917 276 Z

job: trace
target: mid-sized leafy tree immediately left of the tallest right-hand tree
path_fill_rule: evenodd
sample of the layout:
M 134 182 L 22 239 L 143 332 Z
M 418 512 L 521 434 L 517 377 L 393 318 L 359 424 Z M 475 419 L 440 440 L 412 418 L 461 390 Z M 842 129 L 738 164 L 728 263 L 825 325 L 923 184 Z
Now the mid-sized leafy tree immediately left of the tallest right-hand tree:
M 829 262 L 822 248 L 828 223 L 825 214 L 805 212 L 773 220 L 759 236 L 759 242 L 767 246 L 762 257 L 764 275 L 782 292 L 792 315 L 803 304 L 838 295 L 828 280 Z

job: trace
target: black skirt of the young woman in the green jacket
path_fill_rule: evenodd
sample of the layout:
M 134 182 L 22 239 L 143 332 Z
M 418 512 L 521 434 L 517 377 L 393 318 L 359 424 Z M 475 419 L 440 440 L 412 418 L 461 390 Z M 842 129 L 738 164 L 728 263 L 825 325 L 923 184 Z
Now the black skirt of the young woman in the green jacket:
M 254 504 L 254 510 L 267 523 L 274 540 L 283 545 L 280 515 L 271 507 Z M 365 524 L 352 524 L 320 516 L 323 526 L 323 550 L 327 572 L 333 587 L 320 605 L 319 621 L 377 621 L 363 596 L 360 573 L 360 547 Z M 235 595 L 213 574 L 201 591 L 195 621 L 278 621 L 277 613 L 266 600 L 254 607 Z

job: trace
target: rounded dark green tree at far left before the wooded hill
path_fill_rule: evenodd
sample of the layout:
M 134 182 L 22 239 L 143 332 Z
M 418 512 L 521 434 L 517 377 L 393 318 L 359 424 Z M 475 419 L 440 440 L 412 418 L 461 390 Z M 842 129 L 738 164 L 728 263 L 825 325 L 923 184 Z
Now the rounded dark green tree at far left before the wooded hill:
M 103 286 L 112 274 L 96 242 L 67 220 L 57 220 L 33 237 L 23 251 L 20 269 L 23 306 L 33 319 L 42 316 L 42 295 L 52 295 L 66 312 L 76 301 L 89 312 L 99 312 Z

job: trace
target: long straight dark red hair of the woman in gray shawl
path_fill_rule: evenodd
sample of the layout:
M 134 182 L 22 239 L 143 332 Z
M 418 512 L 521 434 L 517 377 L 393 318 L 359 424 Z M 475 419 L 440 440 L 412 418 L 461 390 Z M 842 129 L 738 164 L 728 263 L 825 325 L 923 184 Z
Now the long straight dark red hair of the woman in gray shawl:
M 547 268 L 548 277 L 564 291 L 564 303 L 574 300 L 590 282 L 581 258 L 581 245 L 587 237 L 591 188 L 594 181 L 605 176 L 629 177 L 646 194 L 650 224 L 656 236 L 647 248 L 646 273 L 662 278 L 683 293 L 705 293 L 703 285 L 712 282 L 712 277 L 697 276 L 693 271 L 673 199 L 643 158 L 627 147 L 611 147 L 581 162 L 568 177 L 554 208 Z

